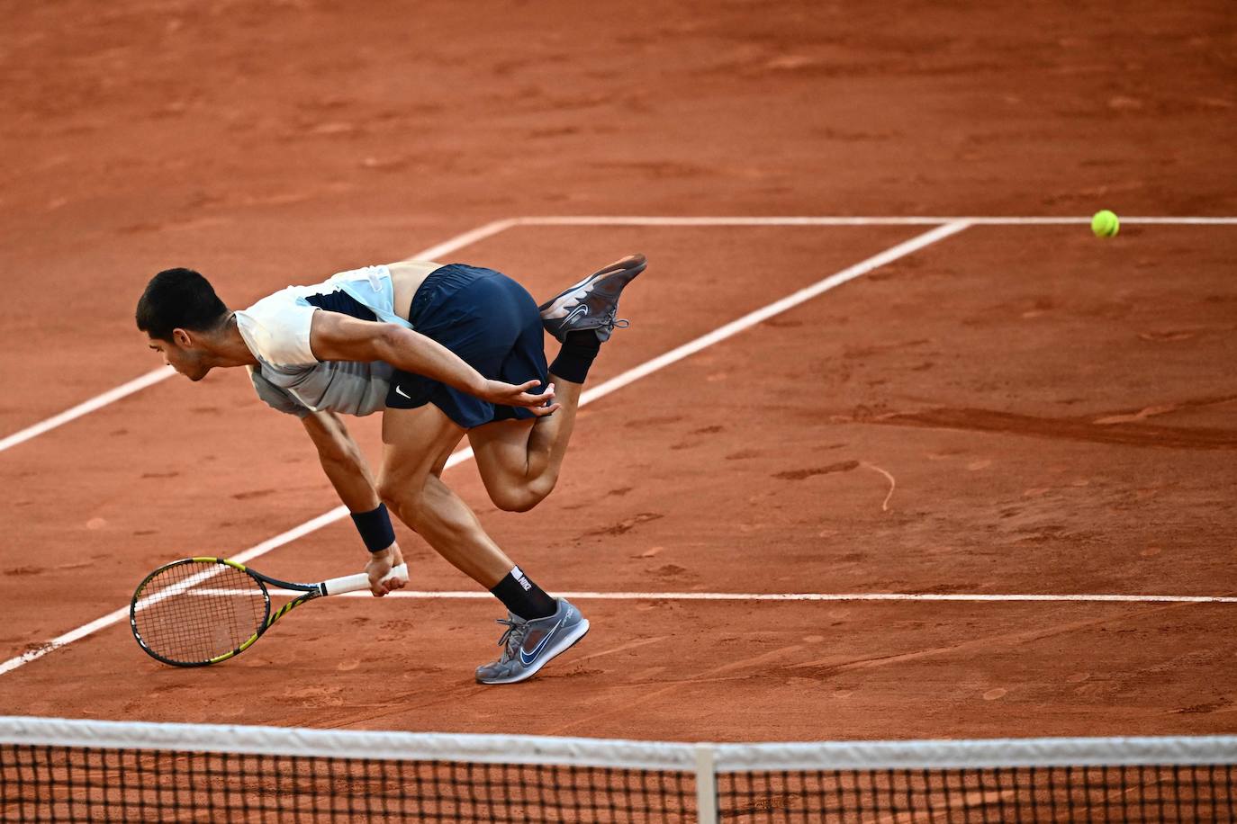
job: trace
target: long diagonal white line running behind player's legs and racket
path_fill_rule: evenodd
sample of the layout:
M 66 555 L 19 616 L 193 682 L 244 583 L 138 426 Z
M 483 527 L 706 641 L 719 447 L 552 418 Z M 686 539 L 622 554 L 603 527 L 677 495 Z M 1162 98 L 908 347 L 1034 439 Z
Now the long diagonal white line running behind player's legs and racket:
M 491 224 L 491 226 L 496 225 L 500 224 Z M 949 237 L 950 235 L 956 235 L 957 232 L 966 229 L 966 226 L 967 224 L 965 222 L 954 222 L 945 226 L 938 226 L 936 229 L 927 231 L 923 235 L 910 238 L 909 241 L 904 241 L 902 243 L 898 243 L 897 246 L 887 248 L 883 252 L 880 252 L 878 254 L 873 254 L 866 261 L 856 263 L 852 267 L 845 268 L 841 272 L 837 272 L 836 274 L 831 274 L 828 278 L 819 280 L 814 285 L 808 287 L 807 289 L 799 289 L 794 294 L 790 294 L 783 298 L 782 300 L 774 301 L 768 306 L 758 309 L 753 313 L 748 313 L 747 315 L 743 315 L 738 320 L 731 321 L 730 324 L 726 324 L 725 326 L 714 330 L 708 335 L 703 335 L 701 337 L 698 337 L 696 340 L 689 343 L 684 343 L 683 346 L 670 350 L 669 352 L 659 357 L 656 357 L 652 361 L 648 361 L 633 369 L 628 369 L 627 372 L 623 372 L 618 377 L 611 378 L 610 380 L 606 380 L 605 383 L 597 385 L 596 388 L 589 392 L 581 393 L 580 405 L 583 406 L 588 403 L 596 400 L 597 398 L 604 398 L 611 392 L 621 389 L 622 387 L 626 387 L 628 383 L 632 383 L 633 380 L 638 380 L 640 378 L 651 374 L 653 372 L 657 372 L 658 369 L 662 369 L 677 361 L 682 361 L 683 358 L 688 357 L 694 352 L 699 352 L 706 346 L 711 346 L 719 341 L 737 335 L 745 329 L 750 329 L 751 326 L 755 326 L 756 324 L 760 324 L 761 321 L 767 320 L 768 317 L 772 317 L 778 313 L 783 313 L 793 306 L 802 304 L 805 300 L 810 300 L 811 298 L 815 298 L 819 294 L 823 294 L 835 287 L 839 287 L 846 283 L 847 280 L 854 280 L 855 278 L 866 274 L 872 269 L 886 266 L 887 263 L 891 263 L 901 257 L 910 254 L 912 252 L 917 252 L 924 248 L 925 246 L 930 246 L 936 241 Z M 439 253 L 442 252 L 439 251 Z M 461 463 L 469 460 L 470 457 L 473 457 L 471 448 L 460 450 L 459 452 L 452 455 L 452 457 L 447 461 L 445 468 L 456 466 L 458 463 Z M 245 550 L 240 555 L 233 556 L 233 560 L 235 560 L 239 563 L 245 563 L 251 558 L 256 558 L 260 555 L 270 552 L 277 546 L 283 546 L 285 544 L 294 541 L 296 539 L 303 535 L 308 535 L 309 532 L 322 529 L 328 524 L 333 524 L 334 521 L 344 518 L 346 514 L 348 514 L 346 507 L 336 507 L 335 509 L 323 513 L 322 515 L 318 515 L 317 518 L 308 520 L 304 524 L 301 524 L 299 526 L 296 526 L 288 530 L 287 532 L 283 532 L 282 535 L 277 535 L 270 539 L 268 541 L 263 541 L 257 546 L 252 546 Z M 66 633 L 64 635 L 57 636 L 40 647 L 30 650 L 28 652 L 24 652 L 22 655 L 19 655 L 14 658 L 9 658 L 4 663 L 0 663 L 0 675 L 11 672 L 17 667 L 30 663 L 31 661 L 37 661 L 48 652 L 58 650 L 66 644 L 72 644 L 73 641 L 83 639 L 87 635 L 90 635 L 92 633 L 95 633 L 105 626 L 109 626 L 111 624 L 115 624 L 116 621 L 122 620 L 127 614 L 129 614 L 127 609 L 118 609 L 116 612 L 109 613 L 108 615 L 104 615 L 98 620 L 90 621 L 85 626 L 80 626 L 75 630 Z

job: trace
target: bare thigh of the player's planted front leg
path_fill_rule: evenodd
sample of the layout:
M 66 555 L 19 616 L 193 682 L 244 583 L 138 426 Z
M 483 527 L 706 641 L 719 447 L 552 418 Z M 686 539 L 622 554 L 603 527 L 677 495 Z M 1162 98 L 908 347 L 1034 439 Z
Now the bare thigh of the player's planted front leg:
M 380 490 L 383 495 L 419 492 L 428 476 L 442 473 L 464 432 L 433 404 L 383 411 Z

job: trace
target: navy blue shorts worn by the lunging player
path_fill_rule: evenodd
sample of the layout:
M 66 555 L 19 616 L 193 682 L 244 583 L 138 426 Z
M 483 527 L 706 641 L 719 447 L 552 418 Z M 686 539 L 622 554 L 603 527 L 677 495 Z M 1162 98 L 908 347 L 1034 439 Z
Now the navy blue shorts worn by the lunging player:
M 408 322 L 486 378 L 524 383 L 549 380 L 541 313 L 528 292 L 494 269 L 452 263 L 430 272 L 412 298 Z M 427 403 L 473 429 L 496 420 L 533 418 L 529 409 L 500 406 L 423 374 L 396 369 L 386 404 L 416 409 Z

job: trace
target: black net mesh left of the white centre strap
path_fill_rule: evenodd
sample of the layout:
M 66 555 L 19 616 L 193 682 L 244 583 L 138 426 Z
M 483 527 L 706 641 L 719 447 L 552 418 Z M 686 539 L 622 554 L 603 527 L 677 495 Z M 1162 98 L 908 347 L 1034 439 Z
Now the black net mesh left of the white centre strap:
M 690 775 L 0 745 L 6 822 L 694 822 Z

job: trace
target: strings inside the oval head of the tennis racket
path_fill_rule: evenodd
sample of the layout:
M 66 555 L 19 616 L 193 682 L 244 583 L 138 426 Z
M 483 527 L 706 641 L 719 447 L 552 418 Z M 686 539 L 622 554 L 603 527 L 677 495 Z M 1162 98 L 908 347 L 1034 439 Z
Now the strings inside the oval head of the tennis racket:
M 182 663 L 231 652 L 259 631 L 266 614 L 262 586 L 214 562 L 167 567 L 135 595 L 135 621 L 146 646 Z

